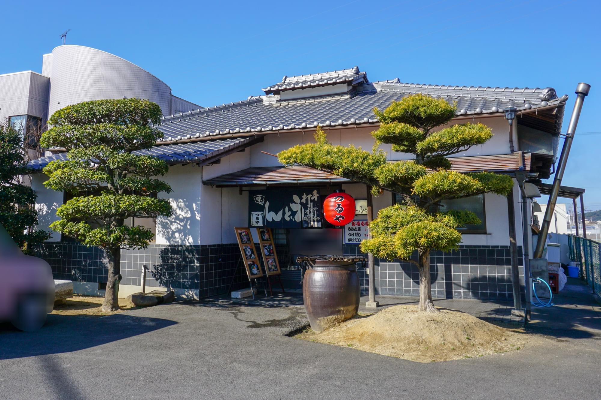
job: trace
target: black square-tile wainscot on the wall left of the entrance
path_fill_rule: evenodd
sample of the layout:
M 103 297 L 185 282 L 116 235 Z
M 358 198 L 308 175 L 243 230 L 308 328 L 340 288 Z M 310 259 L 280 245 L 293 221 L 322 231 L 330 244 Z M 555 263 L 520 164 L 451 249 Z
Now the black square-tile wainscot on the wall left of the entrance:
M 47 242 L 37 256 L 52 267 L 55 279 L 105 283 L 107 260 L 103 250 L 72 242 Z M 148 266 L 147 286 L 198 290 L 210 297 L 248 286 L 243 267 L 237 268 L 237 243 L 201 246 L 149 244 L 146 249 L 121 250 L 121 284 L 141 285 L 141 270 Z

